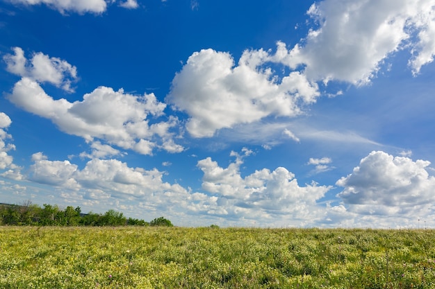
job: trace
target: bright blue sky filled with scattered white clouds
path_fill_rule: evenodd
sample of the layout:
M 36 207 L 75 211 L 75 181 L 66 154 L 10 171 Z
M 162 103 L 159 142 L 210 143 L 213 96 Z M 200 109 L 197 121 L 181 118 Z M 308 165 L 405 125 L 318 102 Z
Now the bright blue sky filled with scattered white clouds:
M 1 202 L 435 227 L 435 1 L 269 2 L 0 0 Z

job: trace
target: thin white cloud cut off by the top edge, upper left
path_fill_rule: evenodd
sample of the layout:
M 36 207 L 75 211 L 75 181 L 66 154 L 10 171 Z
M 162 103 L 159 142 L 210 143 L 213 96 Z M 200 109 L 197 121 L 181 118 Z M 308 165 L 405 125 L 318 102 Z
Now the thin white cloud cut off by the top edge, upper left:
M 101 13 L 106 11 L 107 3 L 104 0 L 7 0 L 13 4 L 38 5 L 45 4 L 61 13 L 78 12 L 80 14 L 91 12 Z

